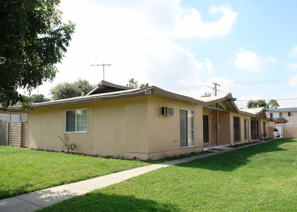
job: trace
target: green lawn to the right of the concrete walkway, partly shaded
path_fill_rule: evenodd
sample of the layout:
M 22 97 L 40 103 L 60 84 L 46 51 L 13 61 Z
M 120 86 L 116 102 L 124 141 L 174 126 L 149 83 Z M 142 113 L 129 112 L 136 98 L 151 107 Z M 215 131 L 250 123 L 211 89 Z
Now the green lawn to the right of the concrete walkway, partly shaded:
M 41 211 L 297 211 L 297 139 L 169 166 Z

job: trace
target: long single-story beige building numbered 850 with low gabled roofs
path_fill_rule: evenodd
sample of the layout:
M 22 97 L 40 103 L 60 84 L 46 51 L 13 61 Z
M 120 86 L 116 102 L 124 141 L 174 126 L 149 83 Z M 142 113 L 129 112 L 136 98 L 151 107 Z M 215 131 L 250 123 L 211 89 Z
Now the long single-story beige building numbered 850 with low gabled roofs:
M 57 136 L 66 133 L 75 142 L 73 152 L 159 159 L 163 152 L 172 156 L 202 151 L 204 128 L 208 143 L 217 142 L 219 135 L 220 143 L 233 144 L 252 139 L 253 131 L 248 130 L 252 118 L 258 131 L 268 127 L 262 109 L 257 113 L 239 110 L 230 93 L 207 98 L 102 80 L 85 96 L 33 104 L 34 110 L 28 113 L 28 147 L 65 151 Z

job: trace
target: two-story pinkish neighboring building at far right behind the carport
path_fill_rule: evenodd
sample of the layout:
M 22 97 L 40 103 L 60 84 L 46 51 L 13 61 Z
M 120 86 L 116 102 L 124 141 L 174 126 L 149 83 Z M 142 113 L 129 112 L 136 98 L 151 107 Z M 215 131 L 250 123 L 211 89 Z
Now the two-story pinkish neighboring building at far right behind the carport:
M 266 116 L 269 118 L 285 118 L 287 123 L 283 124 L 275 124 L 275 128 L 277 128 L 282 135 L 281 126 L 297 126 L 297 107 L 286 107 L 286 108 L 278 108 L 278 109 L 267 109 Z

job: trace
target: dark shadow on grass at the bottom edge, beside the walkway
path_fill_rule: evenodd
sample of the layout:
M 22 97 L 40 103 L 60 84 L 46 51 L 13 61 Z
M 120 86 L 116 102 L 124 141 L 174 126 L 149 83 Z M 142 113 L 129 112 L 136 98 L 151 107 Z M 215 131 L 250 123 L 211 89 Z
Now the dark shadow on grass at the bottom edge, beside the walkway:
M 153 200 L 139 199 L 132 195 L 103 194 L 91 192 L 83 196 L 58 202 L 49 207 L 38 210 L 45 211 L 179 211 L 174 205 L 160 204 Z

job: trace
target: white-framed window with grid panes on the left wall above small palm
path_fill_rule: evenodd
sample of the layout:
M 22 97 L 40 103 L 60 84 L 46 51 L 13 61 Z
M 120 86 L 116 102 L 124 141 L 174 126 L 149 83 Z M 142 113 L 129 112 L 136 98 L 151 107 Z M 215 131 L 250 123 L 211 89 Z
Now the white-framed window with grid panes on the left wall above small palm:
M 88 132 L 88 109 L 66 110 L 65 132 Z

